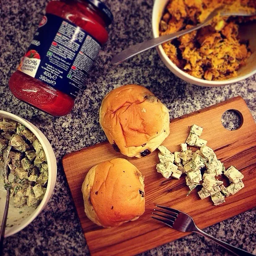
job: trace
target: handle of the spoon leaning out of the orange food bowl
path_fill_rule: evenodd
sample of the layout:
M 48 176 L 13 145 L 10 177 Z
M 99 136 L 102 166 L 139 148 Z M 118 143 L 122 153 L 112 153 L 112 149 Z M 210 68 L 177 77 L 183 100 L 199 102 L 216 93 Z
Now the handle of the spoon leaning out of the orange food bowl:
M 163 44 L 163 43 L 165 43 L 167 41 L 170 41 L 174 38 L 177 38 L 179 36 L 182 36 L 184 34 L 187 34 L 189 32 L 197 30 L 199 28 L 202 28 L 203 26 L 206 25 L 206 23 L 207 22 L 203 22 L 203 23 L 200 23 L 197 26 L 194 26 L 192 28 L 186 28 L 184 30 L 181 30 L 181 31 L 178 31 L 178 32 L 175 32 L 175 33 L 172 33 L 172 34 L 168 34 L 168 35 L 165 35 L 165 36 L 159 36 L 157 38 L 153 38 L 153 39 L 150 39 L 148 41 L 144 41 L 140 44 L 133 45 L 133 46 L 125 49 L 124 51 L 120 52 L 116 56 L 114 56 L 111 63 L 114 64 L 114 65 L 118 65 L 121 62 L 123 62 L 123 61 L 125 61 L 125 60 L 127 60 L 127 59 L 141 53 L 141 52 L 145 52 L 148 49 L 151 49 L 153 47 L 158 46 L 159 44 Z

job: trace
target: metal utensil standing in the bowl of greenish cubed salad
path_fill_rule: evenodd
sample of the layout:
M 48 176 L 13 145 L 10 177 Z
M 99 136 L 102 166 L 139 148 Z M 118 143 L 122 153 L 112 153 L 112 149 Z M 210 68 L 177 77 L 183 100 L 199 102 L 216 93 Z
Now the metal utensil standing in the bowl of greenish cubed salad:
M 14 136 L 14 135 L 13 135 Z M 12 136 L 12 137 L 13 137 Z M 10 138 L 10 142 L 12 140 L 12 137 Z M 4 177 L 4 182 L 5 182 L 5 189 L 7 191 L 6 193 L 6 201 L 5 201 L 5 211 L 3 214 L 3 220 L 1 224 L 1 229 L 0 229 L 0 255 L 3 255 L 3 240 L 5 237 L 5 227 L 6 227 L 6 220 L 7 220 L 7 215 L 8 215 L 8 209 L 9 209 L 9 201 L 10 201 L 10 183 L 9 183 L 9 174 L 10 174 L 10 169 L 8 168 L 8 158 L 11 150 L 11 145 L 8 145 L 8 148 L 6 149 L 4 153 L 4 170 L 3 170 L 3 177 Z

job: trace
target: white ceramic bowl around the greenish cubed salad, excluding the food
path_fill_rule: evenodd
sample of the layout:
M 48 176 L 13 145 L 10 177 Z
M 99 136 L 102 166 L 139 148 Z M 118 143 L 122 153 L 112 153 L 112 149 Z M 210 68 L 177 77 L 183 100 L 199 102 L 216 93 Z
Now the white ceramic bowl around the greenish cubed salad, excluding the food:
M 48 184 L 47 189 L 44 195 L 43 200 L 39 204 L 38 207 L 22 207 L 22 208 L 15 208 L 13 207 L 13 200 L 10 199 L 10 206 L 8 211 L 8 219 L 6 223 L 5 229 L 5 237 L 13 235 L 23 228 L 25 228 L 29 223 L 31 223 L 37 215 L 41 212 L 42 209 L 46 206 L 47 202 L 49 201 L 57 178 L 57 162 L 52 150 L 52 146 L 44 134 L 36 128 L 33 124 L 26 121 L 25 119 L 16 116 L 14 114 L 10 114 L 5 111 L 0 110 L 0 118 L 8 118 L 14 121 L 17 121 L 21 124 L 24 124 L 31 132 L 33 132 L 39 142 L 41 143 L 48 163 Z M 5 207 L 5 198 L 6 198 L 6 190 L 3 188 L 3 178 L 0 181 L 0 221 L 2 221 L 3 211 Z M 22 213 L 21 213 L 22 212 Z

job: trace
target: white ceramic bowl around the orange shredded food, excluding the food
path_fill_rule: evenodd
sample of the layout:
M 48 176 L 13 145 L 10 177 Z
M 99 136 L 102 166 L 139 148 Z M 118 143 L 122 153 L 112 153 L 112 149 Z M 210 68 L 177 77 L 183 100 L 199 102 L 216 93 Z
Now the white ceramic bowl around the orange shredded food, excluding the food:
M 152 14 L 152 28 L 153 28 L 154 38 L 159 36 L 160 19 L 163 15 L 165 5 L 168 3 L 168 1 L 169 0 L 155 0 L 154 6 L 153 6 L 153 14 Z M 246 66 L 238 70 L 238 76 L 228 80 L 208 81 L 208 80 L 195 78 L 187 74 L 183 70 L 179 69 L 165 54 L 162 45 L 159 45 L 157 47 L 157 51 L 158 51 L 158 54 L 160 55 L 160 58 L 163 60 L 165 66 L 168 67 L 168 69 L 171 70 L 171 72 L 173 72 L 179 78 L 185 80 L 188 83 L 191 83 L 194 85 L 201 85 L 201 86 L 228 85 L 230 83 L 236 83 L 240 80 L 248 78 L 249 76 L 254 75 L 256 73 L 256 24 L 253 24 L 252 26 L 246 26 L 245 28 L 243 28 L 242 31 L 243 31 L 243 38 L 248 39 L 250 41 L 250 47 L 253 54 L 251 54 L 250 58 L 248 59 Z

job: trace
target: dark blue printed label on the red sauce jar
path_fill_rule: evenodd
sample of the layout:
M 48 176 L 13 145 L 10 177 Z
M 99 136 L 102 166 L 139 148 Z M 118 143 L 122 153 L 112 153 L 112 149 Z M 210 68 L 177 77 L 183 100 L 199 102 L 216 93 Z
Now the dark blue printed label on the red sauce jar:
M 47 13 L 18 70 L 75 97 L 100 49 L 82 28 Z

